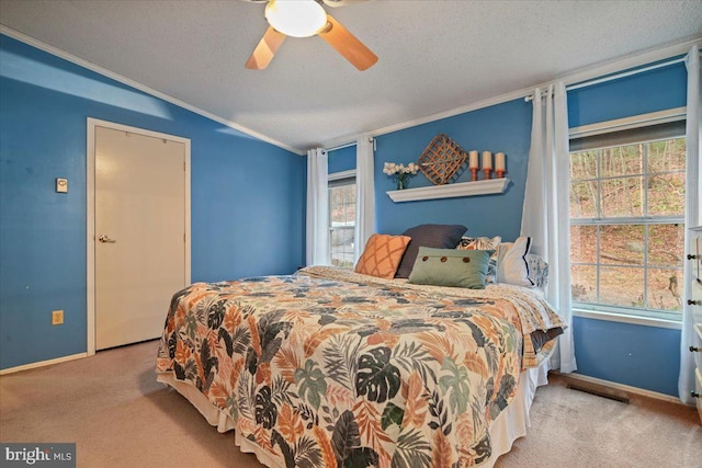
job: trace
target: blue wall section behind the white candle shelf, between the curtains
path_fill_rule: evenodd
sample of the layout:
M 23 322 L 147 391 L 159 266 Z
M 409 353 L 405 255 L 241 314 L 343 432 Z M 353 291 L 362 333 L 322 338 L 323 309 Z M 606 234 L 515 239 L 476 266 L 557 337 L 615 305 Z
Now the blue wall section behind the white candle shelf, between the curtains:
M 400 233 L 416 225 L 460 224 L 471 236 L 501 236 L 511 241 L 519 237 L 526 181 L 526 161 L 531 140 L 531 103 L 523 99 L 492 105 L 378 136 L 375 152 L 375 207 L 377 231 Z M 501 151 L 506 155 L 510 184 L 503 194 L 460 198 L 394 203 L 385 192 L 395 190 L 392 178 L 383 173 L 385 162 L 417 162 L 438 134 L 446 134 L 465 151 Z M 456 182 L 471 180 L 464 168 Z M 479 179 L 484 174 L 479 173 Z M 409 187 L 432 183 L 419 172 Z

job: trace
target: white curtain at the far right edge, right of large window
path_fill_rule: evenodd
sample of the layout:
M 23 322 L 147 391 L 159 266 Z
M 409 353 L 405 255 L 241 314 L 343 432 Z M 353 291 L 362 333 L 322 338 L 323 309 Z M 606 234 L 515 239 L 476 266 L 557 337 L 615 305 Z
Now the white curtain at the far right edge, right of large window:
M 688 107 L 687 107 L 687 125 L 686 139 L 688 157 L 687 179 L 686 179 L 686 206 L 684 206 L 684 224 L 686 227 L 699 226 L 702 222 L 702 196 L 700 190 L 700 170 L 702 168 L 702 151 L 700 150 L 700 140 L 702 139 L 702 106 L 700 105 L 700 49 L 692 46 L 692 49 L 686 58 L 688 67 Z M 689 252 L 689 233 L 686 232 L 686 252 Z M 692 262 L 684 265 L 684 301 L 691 296 L 692 285 Z M 678 380 L 678 391 L 680 400 L 686 403 L 693 403 L 690 391 L 694 389 L 694 361 L 689 350 L 692 344 L 693 326 L 692 306 L 683 306 L 682 312 L 682 333 L 680 335 L 680 378 Z

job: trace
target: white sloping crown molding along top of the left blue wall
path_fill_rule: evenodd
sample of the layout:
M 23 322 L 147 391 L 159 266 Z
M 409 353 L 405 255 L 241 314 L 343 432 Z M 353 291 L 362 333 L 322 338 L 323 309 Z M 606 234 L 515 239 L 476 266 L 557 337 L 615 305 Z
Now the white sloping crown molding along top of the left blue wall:
M 253 138 L 257 138 L 261 141 L 271 144 L 273 146 L 276 146 L 279 148 L 285 149 L 287 151 L 294 152 L 295 155 L 305 155 L 305 151 L 303 151 L 299 148 L 294 148 L 290 145 L 286 145 L 282 141 L 279 141 L 274 138 L 268 137 L 263 134 L 260 134 L 256 130 L 252 130 L 250 128 L 247 128 L 242 125 L 237 124 L 236 122 L 231 122 L 229 119 L 226 119 L 224 117 L 220 117 L 218 115 L 215 115 L 211 112 L 207 112 L 205 110 L 202 110 L 197 106 L 194 106 L 192 104 L 188 104 L 184 101 L 181 101 L 177 98 L 173 98 L 172 95 L 166 94 L 161 91 L 155 90 L 154 88 L 149 88 L 146 84 L 139 83 L 138 81 L 135 81 L 131 78 L 126 78 L 123 77 L 120 73 L 115 73 L 114 71 L 111 71 L 104 67 L 101 67 L 97 64 L 93 64 L 91 61 L 84 60 L 80 57 L 77 57 L 72 54 L 67 53 L 66 50 L 61 50 L 57 47 L 54 47 L 52 45 L 48 45 L 39 39 L 36 39 L 32 36 L 27 36 L 26 34 L 20 33 L 19 31 L 15 31 L 11 27 L 8 27 L 5 25 L 0 24 L 0 34 L 3 34 L 5 36 L 12 37 L 21 43 L 27 44 L 32 47 L 38 48 L 39 50 L 44 50 L 47 54 L 52 54 L 56 57 L 63 58 L 64 60 L 70 61 L 71 64 L 76 64 L 80 67 L 87 68 L 88 70 L 94 71 L 95 73 L 102 75 L 103 77 L 107 77 L 112 80 L 118 81 L 123 84 L 129 85 L 132 88 L 135 88 L 139 91 L 143 91 L 147 94 L 150 94 L 155 98 L 161 99 L 166 102 L 169 102 L 173 105 L 177 105 L 179 107 L 182 107 L 184 110 L 188 110 L 190 112 L 193 112 L 195 114 L 202 115 L 203 117 L 210 118 L 211 121 L 217 122 L 219 124 L 226 125 L 229 128 L 233 128 L 237 132 L 240 132 L 245 135 L 251 136 Z

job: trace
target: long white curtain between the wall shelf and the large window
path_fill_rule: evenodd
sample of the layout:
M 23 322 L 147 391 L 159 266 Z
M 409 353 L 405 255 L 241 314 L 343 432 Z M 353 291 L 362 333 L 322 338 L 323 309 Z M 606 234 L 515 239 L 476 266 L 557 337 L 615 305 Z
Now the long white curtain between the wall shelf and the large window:
M 531 148 L 522 214 L 522 236 L 532 238 L 532 253 L 548 262 L 546 298 L 566 320 L 558 338 L 551 368 L 562 373 L 577 369 L 570 308 L 570 236 L 568 226 L 568 113 L 563 82 L 551 84 L 542 99 L 533 99 Z

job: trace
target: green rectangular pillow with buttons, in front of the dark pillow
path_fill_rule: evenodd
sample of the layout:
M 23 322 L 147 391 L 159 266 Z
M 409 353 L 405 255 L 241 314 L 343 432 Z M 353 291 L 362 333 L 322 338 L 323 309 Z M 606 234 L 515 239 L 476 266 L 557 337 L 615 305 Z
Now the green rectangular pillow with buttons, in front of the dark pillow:
M 419 248 L 409 283 L 484 289 L 494 250 Z

